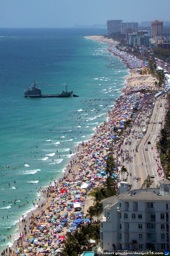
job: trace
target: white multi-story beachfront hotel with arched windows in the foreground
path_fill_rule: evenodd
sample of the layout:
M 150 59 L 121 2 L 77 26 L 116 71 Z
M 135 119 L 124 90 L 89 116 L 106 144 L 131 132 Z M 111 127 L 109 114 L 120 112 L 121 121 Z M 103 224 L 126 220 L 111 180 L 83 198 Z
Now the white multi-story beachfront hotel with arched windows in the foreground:
M 170 181 L 159 184 L 160 188 L 131 191 L 121 184 L 121 191 L 127 192 L 102 200 L 96 252 L 169 250 Z

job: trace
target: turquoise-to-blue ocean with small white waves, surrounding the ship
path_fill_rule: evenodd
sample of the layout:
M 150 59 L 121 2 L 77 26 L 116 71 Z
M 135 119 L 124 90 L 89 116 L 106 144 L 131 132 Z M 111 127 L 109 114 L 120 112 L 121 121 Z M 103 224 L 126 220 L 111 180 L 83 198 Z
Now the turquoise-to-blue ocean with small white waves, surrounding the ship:
M 105 33 L 0 29 L 0 251 L 18 237 L 22 215 L 37 207 L 39 188 L 59 181 L 75 147 L 93 136 L 121 94 L 128 69 L 108 45 L 85 38 Z M 61 93 L 67 83 L 79 97 L 25 98 L 34 80 L 42 94 Z

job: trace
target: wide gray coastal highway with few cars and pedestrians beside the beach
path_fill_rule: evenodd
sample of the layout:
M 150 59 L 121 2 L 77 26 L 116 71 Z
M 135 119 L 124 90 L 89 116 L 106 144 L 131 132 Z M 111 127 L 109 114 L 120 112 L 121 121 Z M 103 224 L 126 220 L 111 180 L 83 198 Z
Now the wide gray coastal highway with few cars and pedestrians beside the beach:
M 134 135 L 130 133 L 128 138 L 124 140 L 124 144 L 122 146 L 122 157 L 125 158 L 128 152 L 129 156 L 133 158 L 133 162 L 128 161 L 128 159 L 124 162 L 122 157 L 119 158 L 121 165 L 124 165 L 129 173 L 128 176 L 127 174 L 122 174 L 121 181 L 127 177 L 127 182 L 132 184 L 132 189 L 141 188 L 142 183 L 147 178 L 148 174 L 153 174 L 155 176 L 152 178 L 153 184 L 151 187 L 156 187 L 159 179 L 163 178 L 163 174 L 161 177 L 159 177 L 157 172 L 158 165 L 160 165 L 160 159 L 158 158 L 158 153 L 156 151 L 156 142 L 159 140 L 160 130 L 161 127 L 163 127 L 164 115 L 166 111 L 165 109 L 167 106 L 166 104 L 167 102 L 165 97 L 160 96 L 158 100 L 155 101 L 155 107 L 152 115 L 151 108 L 148 108 L 147 112 L 145 111 L 145 114 L 142 113 L 142 120 L 144 121 L 141 122 L 141 127 L 133 126 L 131 130 L 135 131 Z M 162 105 L 162 107 L 160 107 L 160 105 Z M 138 134 L 142 133 L 144 128 L 147 128 L 147 122 L 149 120 L 149 118 L 147 118 L 148 114 L 151 116 L 151 118 L 148 124 L 147 133 L 144 135 L 144 137 L 143 135 L 140 135 L 140 137 L 142 137 L 142 141 L 139 144 L 138 152 L 136 152 L 136 146 L 139 143 L 139 140 L 141 140 L 138 138 Z M 129 141 L 131 142 L 130 145 Z M 148 144 L 148 141 L 150 141 L 151 144 Z M 135 177 L 136 179 L 138 178 L 138 181 L 136 181 Z

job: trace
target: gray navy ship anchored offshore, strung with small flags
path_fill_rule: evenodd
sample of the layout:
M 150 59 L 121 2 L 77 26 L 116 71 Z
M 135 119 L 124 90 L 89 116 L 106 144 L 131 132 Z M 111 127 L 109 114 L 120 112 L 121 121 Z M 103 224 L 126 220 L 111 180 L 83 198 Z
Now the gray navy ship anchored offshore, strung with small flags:
M 65 91 L 62 91 L 61 94 L 46 94 L 46 95 L 43 95 L 41 93 L 40 86 L 38 85 L 36 87 L 35 81 L 34 81 L 33 85 L 34 85 L 34 87 L 32 87 L 31 90 L 29 90 L 29 88 L 27 89 L 27 91 L 24 94 L 24 97 L 30 97 L 30 98 L 70 97 L 71 94 L 73 93 L 73 91 L 68 91 L 67 90 L 67 85 L 66 85 Z

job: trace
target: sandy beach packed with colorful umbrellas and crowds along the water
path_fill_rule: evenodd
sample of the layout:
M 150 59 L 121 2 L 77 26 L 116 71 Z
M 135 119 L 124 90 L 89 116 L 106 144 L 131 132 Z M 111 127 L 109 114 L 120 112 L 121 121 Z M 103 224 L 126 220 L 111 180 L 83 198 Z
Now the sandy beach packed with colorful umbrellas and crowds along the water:
M 107 152 L 110 145 L 114 146 L 114 157 L 117 175 L 120 163 L 118 161 L 119 151 L 125 139 L 125 133 L 121 138 L 116 138 L 114 144 L 113 127 L 118 131 L 124 129 L 125 121 L 131 118 L 133 109 L 138 105 L 139 112 L 133 113 L 133 123 L 140 115 L 142 107 L 148 104 L 152 95 L 146 97 L 141 90 L 155 90 L 155 77 L 152 75 L 140 75 L 138 69 L 147 65 L 133 56 L 123 55 L 115 46 L 118 42 L 106 39 L 102 36 L 89 36 L 88 38 L 108 44 L 108 51 L 124 61 L 130 69 L 130 75 L 126 77 L 126 83 L 122 89 L 121 96 L 113 102 L 113 110 L 107 113 L 107 122 L 96 127 L 96 133 L 87 142 L 77 148 L 77 153 L 70 159 L 70 164 L 57 184 L 51 181 L 46 188 L 41 188 L 44 200 L 36 202 L 37 208 L 27 218 L 22 218 L 18 229 L 18 240 L 10 248 L 6 248 L 2 255 L 23 255 L 30 253 L 38 255 L 45 253 L 51 255 L 62 255 L 62 248 L 67 232 L 74 232 L 80 225 L 93 223 L 87 217 L 87 209 L 93 205 L 92 197 L 86 196 L 88 191 L 94 187 L 100 187 L 106 179 L 105 166 Z M 121 180 L 117 176 L 117 187 Z M 78 224 L 75 223 L 78 219 Z M 9 238 L 10 241 L 10 238 Z

